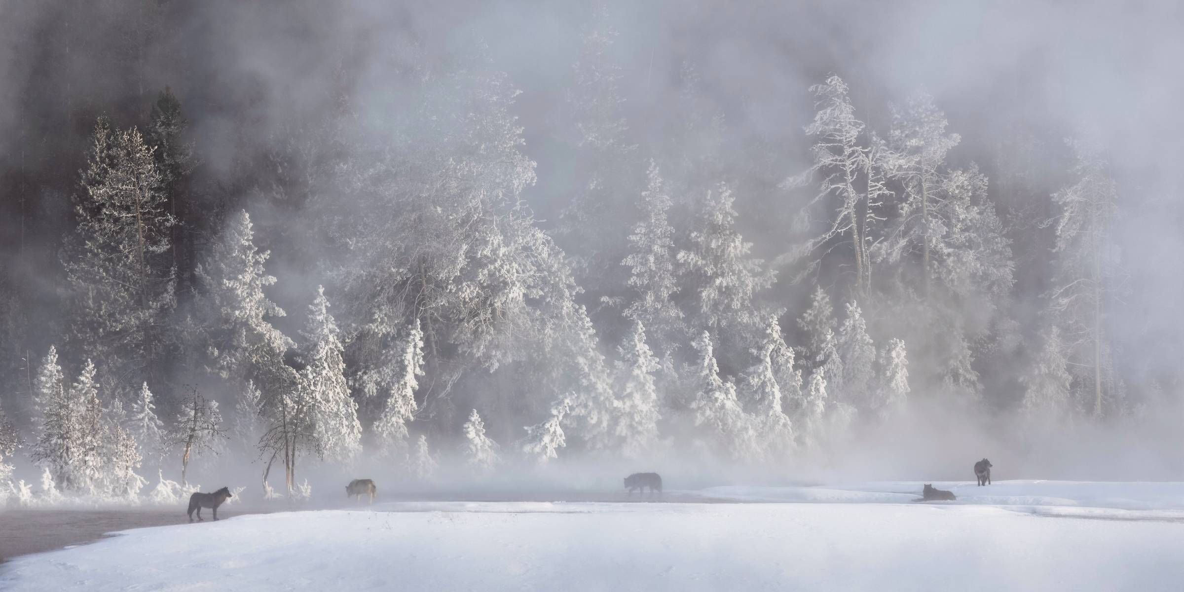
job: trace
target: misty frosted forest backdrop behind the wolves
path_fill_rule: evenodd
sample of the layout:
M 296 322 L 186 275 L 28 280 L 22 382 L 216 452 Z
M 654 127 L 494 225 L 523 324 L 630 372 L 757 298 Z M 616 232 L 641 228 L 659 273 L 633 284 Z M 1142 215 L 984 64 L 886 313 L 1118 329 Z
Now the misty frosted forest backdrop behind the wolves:
M 0 14 L 9 506 L 1184 480 L 1176 2 Z

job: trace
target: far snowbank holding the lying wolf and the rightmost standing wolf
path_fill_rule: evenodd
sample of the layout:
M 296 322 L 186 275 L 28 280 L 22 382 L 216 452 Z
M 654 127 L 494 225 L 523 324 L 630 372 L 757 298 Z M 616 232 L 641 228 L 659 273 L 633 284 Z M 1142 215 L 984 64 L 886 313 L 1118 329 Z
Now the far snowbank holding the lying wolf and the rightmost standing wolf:
M 952 490 L 959 503 L 1184 510 L 1182 482 L 996 481 L 985 487 L 973 481 L 932 483 Z M 921 487 L 920 481 L 883 481 L 823 487 L 714 487 L 683 493 L 745 502 L 893 503 L 919 498 Z

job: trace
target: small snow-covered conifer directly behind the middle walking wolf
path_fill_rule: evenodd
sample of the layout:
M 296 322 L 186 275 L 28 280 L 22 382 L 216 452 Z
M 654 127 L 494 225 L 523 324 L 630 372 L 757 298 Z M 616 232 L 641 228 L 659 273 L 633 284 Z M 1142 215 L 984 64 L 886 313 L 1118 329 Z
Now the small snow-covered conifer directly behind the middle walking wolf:
M 617 437 L 620 452 L 629 458 L 645 458 L 657 445 L 658 393 L 655 373 L 658 360 L 645 345 L 645 327 L 633 322 L 632 330 L 617 348 Z

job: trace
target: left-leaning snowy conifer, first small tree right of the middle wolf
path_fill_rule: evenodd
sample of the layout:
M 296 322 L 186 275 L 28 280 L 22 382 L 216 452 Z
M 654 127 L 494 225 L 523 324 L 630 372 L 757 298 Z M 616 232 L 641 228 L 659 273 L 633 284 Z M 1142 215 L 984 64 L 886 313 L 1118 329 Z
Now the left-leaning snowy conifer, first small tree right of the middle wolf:
M 720 378 L 712 336 L 703 332 L 691 347 L 697 360 L 690 368 L 695 386 L 690 410 L 695 425 L 701 426 L 706 433 L 703 444 L 709 450 L 725 451 L 736 461 L 754 458 L 759 448 L 752 423 L 740 408 L 735 385 Z

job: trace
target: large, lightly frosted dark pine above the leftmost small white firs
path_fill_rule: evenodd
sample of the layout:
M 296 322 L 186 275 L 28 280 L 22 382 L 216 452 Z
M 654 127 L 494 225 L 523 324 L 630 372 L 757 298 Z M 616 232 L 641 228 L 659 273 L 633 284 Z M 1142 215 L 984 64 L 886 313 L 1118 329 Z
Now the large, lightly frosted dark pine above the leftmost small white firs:
M 135 128 L 115 129 L 105 117 L 95 124 L 82 188 L 76 236 L 63 251 L 70 342 L 101 361 L 104 384 L 130 377 L 134 385 L 166 355 L 175 271 L 165 253 L 176 220 L 165 211 L 153 148 Z

